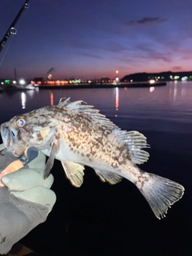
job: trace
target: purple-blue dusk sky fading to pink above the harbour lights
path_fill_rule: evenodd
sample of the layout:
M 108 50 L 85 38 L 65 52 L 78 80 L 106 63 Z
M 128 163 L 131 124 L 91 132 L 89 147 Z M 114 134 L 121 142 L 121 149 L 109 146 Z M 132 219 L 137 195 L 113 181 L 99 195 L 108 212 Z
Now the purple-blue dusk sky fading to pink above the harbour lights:
M 24 2 L 1 0 L 0 39 Z M 192 70 L 191 0 L 29 3 L 0 53 L 0 78 L 14 78 L 14 68 L 18 78 L 53 68 L 54 79 Z

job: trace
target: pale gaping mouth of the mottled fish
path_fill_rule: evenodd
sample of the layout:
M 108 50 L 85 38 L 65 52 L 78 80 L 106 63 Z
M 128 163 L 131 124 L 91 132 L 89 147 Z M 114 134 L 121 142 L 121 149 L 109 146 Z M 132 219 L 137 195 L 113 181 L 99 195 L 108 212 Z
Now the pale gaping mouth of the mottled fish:
M 15 157 L 19 157 L 20 154 L 17 154 L 14 150 L 14 144 L 16 139 L 16 134 L 13 130 L 10 130 L 8 123 L 3 123 L 1 125 L 1 134 L 2 134 L 2 142 L 4 146 L 6 146 L 7 150 L 9 150 Z

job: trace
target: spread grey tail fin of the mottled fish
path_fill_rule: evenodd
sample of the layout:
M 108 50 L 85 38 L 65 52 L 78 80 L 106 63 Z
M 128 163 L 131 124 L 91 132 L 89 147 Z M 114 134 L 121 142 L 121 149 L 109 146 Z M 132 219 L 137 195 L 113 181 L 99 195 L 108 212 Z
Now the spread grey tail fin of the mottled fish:
M 138 186 L 155 216 L 159 219 L 166 217 L 165 214 L 168 208 L 182 198 L 185 190 L 177 182 L 145 172 L 141 173 L 136 186 Z

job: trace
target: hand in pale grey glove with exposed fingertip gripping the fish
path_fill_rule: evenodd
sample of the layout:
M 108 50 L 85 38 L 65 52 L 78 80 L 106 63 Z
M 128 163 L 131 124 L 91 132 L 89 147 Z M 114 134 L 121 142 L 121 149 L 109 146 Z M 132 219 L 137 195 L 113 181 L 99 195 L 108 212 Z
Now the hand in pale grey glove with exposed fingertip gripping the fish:
M 52 210 L 54 177 L 50 174 L 43 179 L 45 166 L 46 156 L 34 147 L 26 156 L 15 158 L 0 145 L 0 254 L 9 252 L 15 242 L 45 222 Z

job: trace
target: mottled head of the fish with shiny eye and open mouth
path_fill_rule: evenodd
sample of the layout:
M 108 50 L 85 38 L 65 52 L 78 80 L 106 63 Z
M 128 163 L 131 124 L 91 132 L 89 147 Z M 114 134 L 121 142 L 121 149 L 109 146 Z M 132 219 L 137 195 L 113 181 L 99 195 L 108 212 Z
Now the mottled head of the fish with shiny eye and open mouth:
M 15 157 L 20 157 L 27 147 L 47 150 L 57 134 L 56 124 L 41 109 L 11 118 L 2 123 L 2 142 Z

